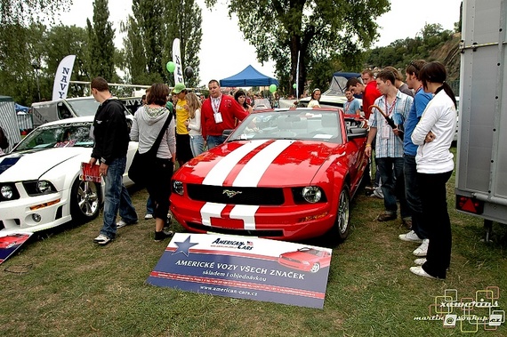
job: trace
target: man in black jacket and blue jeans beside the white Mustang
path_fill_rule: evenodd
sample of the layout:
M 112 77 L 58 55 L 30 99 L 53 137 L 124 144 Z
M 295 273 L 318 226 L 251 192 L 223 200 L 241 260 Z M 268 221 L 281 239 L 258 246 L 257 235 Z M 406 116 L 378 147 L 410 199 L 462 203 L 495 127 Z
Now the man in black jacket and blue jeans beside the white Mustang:
M 95 142 L 90 164 L 100 162 L 100 173 L 105 181 L 104 222 L 101 234 L 93 241 L 99 245 L 108 245 L 117 234 L 115 220 L 118 210 L 121 221 L 125 224 L 137 222 L 137 213 L 123 184 L 130 137 L 125 107 L 119 100 L 113 99 L 108 82 L 102 77 L 96 77 L 90 86 L 93 98 L 101 103 L 95 113 L 91 131 Z

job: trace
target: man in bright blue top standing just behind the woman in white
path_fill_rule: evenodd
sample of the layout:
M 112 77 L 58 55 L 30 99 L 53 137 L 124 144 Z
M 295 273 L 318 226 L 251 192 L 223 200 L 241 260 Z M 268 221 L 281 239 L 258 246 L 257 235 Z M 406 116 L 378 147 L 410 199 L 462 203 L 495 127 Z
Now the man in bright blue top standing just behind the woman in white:
M 405 195 L 406 204 L 412 213 L 411 231 L 399 235 L 403 241 L 421 243 L 414 250 L 415 256 L 426 256 L 428 251 L 428 230 L 422 222 L 422 201 L 419 193 L 419 183 L 417 181 L 417 165 L 415 164 L 415 155 L 417 154 L 417 145 L 412 142 L 412 132 L 415 125 L 419 123 L 424 109 L 433 98 L 433 95 L 422 90 L 422 82 L 419 80 L 419 70 L 426 64 L 425 60 L 414 60 L 406 67 L 406 84 L 408 88 L 415 91 L 414 104 L 406 117 L 405 139 L 403 143 L 403 172 L 405 174 Z

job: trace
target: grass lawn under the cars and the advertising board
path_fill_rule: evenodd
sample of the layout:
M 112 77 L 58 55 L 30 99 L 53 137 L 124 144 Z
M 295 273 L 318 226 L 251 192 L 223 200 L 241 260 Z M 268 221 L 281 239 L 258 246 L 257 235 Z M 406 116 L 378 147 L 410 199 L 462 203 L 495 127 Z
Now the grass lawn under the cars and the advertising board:
M 487 286 L 500 289 L 499 310 L 507 309 L 506 231 L 494 224 L 484 243 L 482 221 L 457 213 L 454 179 L 448 183 L 453 228 L 451 268 L 446 280 L 416 277 L 417 244 L 398 239 L 401 221 L 378 222 L 382 200 L 358 193 L 351 205 L 350 237 L 333 248 L 324 309 L 237 300 L 145 285 L 169 240 L 153 241 L 154 221 L 118 230 L 105 247 L 93 244 L 100 216 L 83 226 L 39 233 L 1 265 L 0 335 L 3 336 L 451 336 L 429 315 L 436 296 L 455 289 L 475 297 Z M 144 215 L 146 192 L 133 191 Z M 175 224 L 176 229 L 183 230 Z M 276 243 L 274 244 L 276 245 Z M 486 309 L 477 309 L 483 316 Z M 475 312 L 472 312 L 472 314 Z M 475 325 L 463 325 L 471 330 Z M 506 336 L 507 328 L 474 336 Z

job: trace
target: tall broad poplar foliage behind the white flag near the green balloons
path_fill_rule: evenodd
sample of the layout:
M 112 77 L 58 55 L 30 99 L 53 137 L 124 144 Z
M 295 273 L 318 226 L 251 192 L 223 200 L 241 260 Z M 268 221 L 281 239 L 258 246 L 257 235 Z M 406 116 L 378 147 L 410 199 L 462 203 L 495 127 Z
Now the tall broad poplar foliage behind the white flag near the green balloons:
M 173 74 L 165 69 L 172 60 L 173 40 L 181 40 L 183 67 L 198 74 L 201 44 L 201 10 L 194 0 L 133 0 L 133 15 L 122 23 L 125 73 L 133 83 L 165 82 L 173 85 Z M 188 86 L 198 76 L 185 79 Z M 192 82 L 193 81 L 193 82 Z

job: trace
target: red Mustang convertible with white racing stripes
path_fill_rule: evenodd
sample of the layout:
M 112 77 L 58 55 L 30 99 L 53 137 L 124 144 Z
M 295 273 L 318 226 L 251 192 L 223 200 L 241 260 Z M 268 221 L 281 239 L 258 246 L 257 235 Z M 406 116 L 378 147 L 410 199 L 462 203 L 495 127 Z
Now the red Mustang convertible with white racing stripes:
M 345 239 L 368 160 L 364 124 L 337 108 L 254 112 L 174 173 L 174 218 L 197 233 Z

